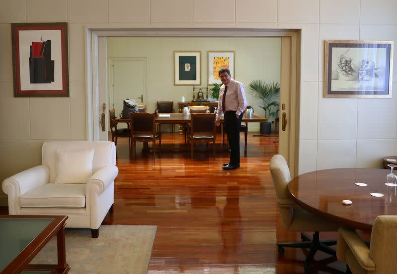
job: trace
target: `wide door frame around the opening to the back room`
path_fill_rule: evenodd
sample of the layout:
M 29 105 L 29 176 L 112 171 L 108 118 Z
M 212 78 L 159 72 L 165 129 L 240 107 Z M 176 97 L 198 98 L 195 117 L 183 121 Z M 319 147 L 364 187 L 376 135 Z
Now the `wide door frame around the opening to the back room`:
M 300 99 L 300 56 L 301 30 L 285 29 L 252 29 L 252 28 L 98 28 L 85 27 L 85 77 L 86 77 L 86 139 L 99 140 L 100 112 L 102 105 L 99 90 L 107 89 L 107 83 L 100 81 L 102 75 L 100 63 L 107 60 L 106 51 L 100 50 L 103 37 L 290 37 L 291 69 L 290 69 L 290 124 L 289 133 L 289 167 L 294 176 L 298 170 L 299 159 L 299 99 Z M 106 54 L 104 54 L 104 52 Z M 282 72 L 281 67 L 281 72 Z M 281 75 L 280 75 L 281 76 Z M 280 83 L 282 85 L 282 83 Z M 106 101 L 107 102 L 107 101 Z M 281 103 L 281 102 L 280 102 Z M 94 122 L 95 121 L 95 122 Z M 281 122 L 281 121 L 280 121 Z

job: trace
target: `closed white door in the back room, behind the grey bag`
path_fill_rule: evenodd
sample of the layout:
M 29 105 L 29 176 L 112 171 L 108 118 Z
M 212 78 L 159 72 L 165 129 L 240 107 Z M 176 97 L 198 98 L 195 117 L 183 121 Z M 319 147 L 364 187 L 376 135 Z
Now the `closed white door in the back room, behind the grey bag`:
M 147 102 L 146 57 L 109 58 L 109 108 L 118 115 L 123 110 L 123 100 Z

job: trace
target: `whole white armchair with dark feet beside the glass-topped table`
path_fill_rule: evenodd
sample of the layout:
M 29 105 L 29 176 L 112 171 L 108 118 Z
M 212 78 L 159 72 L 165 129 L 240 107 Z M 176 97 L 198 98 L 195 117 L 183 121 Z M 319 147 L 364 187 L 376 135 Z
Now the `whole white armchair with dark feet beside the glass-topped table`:
M 57 176 L 60 168 L 64 168 L 59 166 L 63 163 L 60 153 L 80 151 L 91 153 L 86 155 L 87 159 L 92 159 L 92 165 L 88 165 L 92 167 L 92 172 L 88 173 L 84 182 L 72 183 L 68 183 L 67 179 L 68 175 L 72 177 L 74 174 L 66 173 L 60 183 Z M 68 161 L 73 160 L 70 154 L 68 157 Z M 84 159 L 77 157 L 78 161 Z M 67 215 L 66 227 L 91 228 L 92 237 L 97 238 L 99 226 L 108 211 L 113 209 L 114 180 L 118 172 L 113 142 L 45 142 L 42 147 L 42 165 L 5 179 L 2 190 L 8 195 L 10 215 Z

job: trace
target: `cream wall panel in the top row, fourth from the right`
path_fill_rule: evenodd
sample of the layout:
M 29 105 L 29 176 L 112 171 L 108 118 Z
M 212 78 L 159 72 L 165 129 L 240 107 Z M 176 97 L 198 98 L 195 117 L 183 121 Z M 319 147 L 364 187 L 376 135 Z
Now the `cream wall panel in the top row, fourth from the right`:
M 234 24 L 235 17 L 234 0 L 193 0 L 193 21 L 195 24 Z

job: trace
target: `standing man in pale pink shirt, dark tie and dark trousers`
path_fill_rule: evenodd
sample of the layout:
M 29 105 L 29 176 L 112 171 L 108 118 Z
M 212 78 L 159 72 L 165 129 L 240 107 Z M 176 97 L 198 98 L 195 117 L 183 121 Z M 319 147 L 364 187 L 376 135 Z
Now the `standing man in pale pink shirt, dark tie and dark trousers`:
M 219 90 L 218 113 L 215 124 L 220 125 L 220 117 L 224 114 L 227 141 L 230 147 L 230 162 L 222 166 L 223 170 L 240 167 L 240 125 L 243 112 L 247 107 L 243 84 L 232 79 L 230 70 L 221 68 L 218 71 L 223 85 Z

